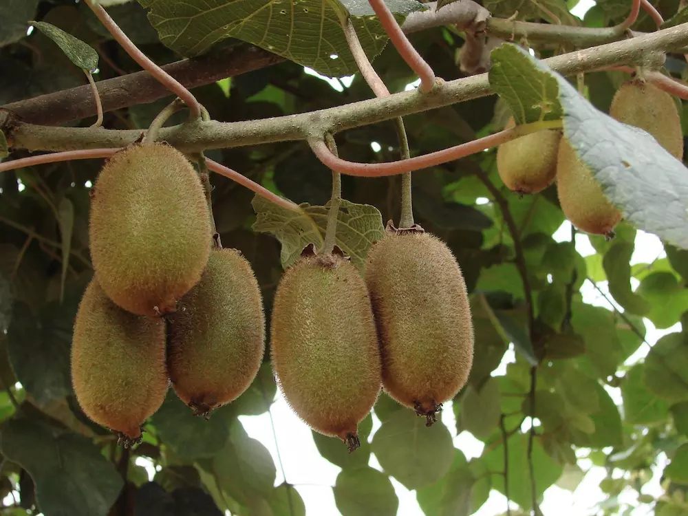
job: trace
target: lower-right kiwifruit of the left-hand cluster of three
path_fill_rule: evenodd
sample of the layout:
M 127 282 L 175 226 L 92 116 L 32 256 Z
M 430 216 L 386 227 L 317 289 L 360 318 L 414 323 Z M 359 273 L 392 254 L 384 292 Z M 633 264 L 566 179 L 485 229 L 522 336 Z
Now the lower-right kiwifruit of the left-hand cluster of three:
M 265 314 L 258 281 L 237 250 L 211 251 L 169 322 L 167 370 L 195 413 L 207 417 L 248 389 L 263 361 Z

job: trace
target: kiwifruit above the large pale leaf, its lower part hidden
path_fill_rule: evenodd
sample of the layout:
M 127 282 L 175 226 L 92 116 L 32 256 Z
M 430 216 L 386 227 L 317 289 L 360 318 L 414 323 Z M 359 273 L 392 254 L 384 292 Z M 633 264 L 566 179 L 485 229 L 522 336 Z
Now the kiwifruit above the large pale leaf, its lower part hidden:
M 674 98 L 652 83 L 635 78 L 616 90 L 610 116 L 644 129 L 678 160 L 683 159 L 683 131 Z

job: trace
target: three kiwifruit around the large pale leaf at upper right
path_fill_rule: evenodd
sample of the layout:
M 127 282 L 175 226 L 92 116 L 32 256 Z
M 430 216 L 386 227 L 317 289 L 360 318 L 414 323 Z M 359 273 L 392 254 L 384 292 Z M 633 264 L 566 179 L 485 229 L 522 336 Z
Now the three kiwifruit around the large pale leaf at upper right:
M 680 116 L 674 98 L 642 78 L 623 83 L 614 94 L 610 116 L 654 136 L 671 155 L 683 157 Z M 507 127 L 513 127 L 513 118 Z M 504 184 L 521 195 L 557 182 L 559 204 L 577 228 L 611 237 L 621 212 L 605 197 L 592 172 L 561 131 L 549 129 L 506 142 L 497 149 L 497 171 Z

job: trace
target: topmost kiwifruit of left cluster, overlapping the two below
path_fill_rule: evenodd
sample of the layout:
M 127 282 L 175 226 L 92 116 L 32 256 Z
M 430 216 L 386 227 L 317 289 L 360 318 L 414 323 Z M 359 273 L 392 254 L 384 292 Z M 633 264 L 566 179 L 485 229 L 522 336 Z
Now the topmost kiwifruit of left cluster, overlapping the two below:
M 158 315 L 199 281 L 211 250 L 202 184 L 180 151 L 133 144 L 98 175 L 90 215 L 98 283 L 117 305 Z

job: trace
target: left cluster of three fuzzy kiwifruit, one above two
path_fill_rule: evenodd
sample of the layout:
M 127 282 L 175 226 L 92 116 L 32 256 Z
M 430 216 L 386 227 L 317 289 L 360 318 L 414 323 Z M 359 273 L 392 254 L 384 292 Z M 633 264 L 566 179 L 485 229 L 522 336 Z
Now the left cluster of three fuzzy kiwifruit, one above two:
M 103 166 L 92 191 L 94 278 L 72 340 L 84 413 L 125 444 L 141 438 L 170 385 L 207 416 L 242 394 L 265 345 L 263 303 L 248 261 L 222 249 L 191 162 L 137 143 Z

